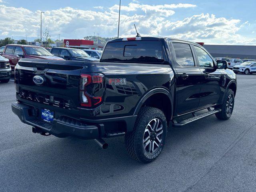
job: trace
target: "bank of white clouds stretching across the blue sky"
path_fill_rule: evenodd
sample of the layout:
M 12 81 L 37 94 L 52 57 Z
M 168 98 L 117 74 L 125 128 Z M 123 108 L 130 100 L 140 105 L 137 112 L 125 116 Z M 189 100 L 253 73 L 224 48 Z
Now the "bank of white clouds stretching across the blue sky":
M 134 36 L 135 23 L 143 36 L 170 36 L 193 41 L 218 44 L 256 44 L 255 39 L 238 35 L 249 22 L 216 17 L 214 14 L 196 14 L 182 20 L 172 20 L 180 8 L 195 8 L 193 4 L 146 5 L 132 2 L 122 6 L 120 16 L 121 36 Z M 95 7 L 97 11 L 79 10 L 70 7 L 47 10 L 43 14 L 43 29 L 50 31 L 52 38 L 83 38 L 99 32 L 100 36 L 117 35 L 119 5 L 110 8 Z M 2 36 L 34 36 L 40 34 L 40 10 L 0 5 L 0 34 Z M 18 19 L 17 19 L 18 18 Z

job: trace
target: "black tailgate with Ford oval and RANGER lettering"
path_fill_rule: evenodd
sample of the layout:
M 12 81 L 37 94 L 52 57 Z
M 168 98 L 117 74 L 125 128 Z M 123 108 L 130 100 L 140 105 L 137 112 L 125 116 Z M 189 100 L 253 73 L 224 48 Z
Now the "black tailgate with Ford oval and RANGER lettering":
M 18 100 L 53 111 L 55 118 L 79 114 L 79 77 L 83 62 L 22 59 L 15 70 Z M 40 112 L 39 112 L 40 113 Z

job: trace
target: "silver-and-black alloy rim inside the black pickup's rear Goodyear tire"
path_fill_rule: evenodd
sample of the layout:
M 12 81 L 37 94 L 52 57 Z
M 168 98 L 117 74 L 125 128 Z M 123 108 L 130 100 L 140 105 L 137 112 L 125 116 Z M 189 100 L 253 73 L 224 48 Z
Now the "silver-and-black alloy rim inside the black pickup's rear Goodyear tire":
M 154 118 L 144 131 L 143 146 L 148 154 L 154 153 L 162 145 L 163 125 L 161 120 Z

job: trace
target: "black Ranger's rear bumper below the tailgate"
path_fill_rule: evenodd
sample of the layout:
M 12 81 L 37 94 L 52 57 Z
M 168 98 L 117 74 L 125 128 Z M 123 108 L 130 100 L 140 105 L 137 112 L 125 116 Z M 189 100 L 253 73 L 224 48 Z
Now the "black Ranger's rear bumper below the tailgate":
M 96 139 L 103 137 L 113 137 L 123 135 L 124 132 L 106 132 L 109 130 L 108 126 L 111 126 L 111 122 L 117 121 L 116 118 L 108 120 L 92 121 L 80 121 L 67 116 L 61 116 L 54 118 L 52 123 L 44 122 L 38 118 L 38 110 L 33 106 L 29 106 L 22 103 L 12 103 L 12 112 L 16 114 L 20 120 L 28 125 L 36 128 L 40 128 L 43 132 L 48 132 L 54 136 L 64 137 L 76 137 L 81 139 Z M 129 122 L 133 128 L 133 124 L 136 120 L 136 116 L 124 117 L 124 122 Z

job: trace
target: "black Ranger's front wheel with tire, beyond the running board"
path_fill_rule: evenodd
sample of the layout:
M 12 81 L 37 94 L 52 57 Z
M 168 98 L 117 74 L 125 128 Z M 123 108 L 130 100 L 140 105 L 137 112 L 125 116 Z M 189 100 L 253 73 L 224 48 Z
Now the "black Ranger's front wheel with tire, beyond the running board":
M 228 89 L 223 104 L 215 107 L 221 109 L 221 112 L 215 114 L 218 119 L 227 120 L 231 117 L 234 109 L 234 98 L 234 92 Z

